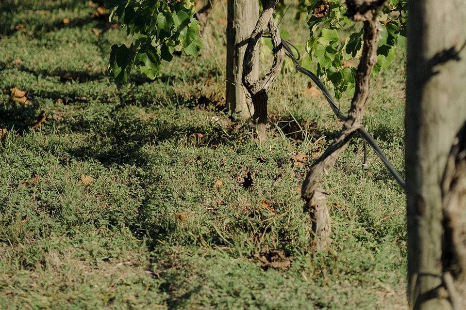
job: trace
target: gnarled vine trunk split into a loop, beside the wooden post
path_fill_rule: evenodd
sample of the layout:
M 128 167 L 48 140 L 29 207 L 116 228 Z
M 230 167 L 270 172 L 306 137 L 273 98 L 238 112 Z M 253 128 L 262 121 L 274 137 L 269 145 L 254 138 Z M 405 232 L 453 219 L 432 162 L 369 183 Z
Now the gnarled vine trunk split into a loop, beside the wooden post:
M 257 122 L 259 140 L 266 139 L 267 124 L 267 91 L 274 79 L 280 73 L 285 52 L 282 46 L 280 31 L 273 20 L 273 12 L 278 0 L 262 0 L 263 11 L 248 40 L 248 46 L 243 63 L 243 84 L 250 93 L 254 114 L 252 118 Z M 259 40 L 268 29 L 272 39 L 273 63 L 270 70 L 262 78 L 253 76 L 254 59 L 258 55 Z

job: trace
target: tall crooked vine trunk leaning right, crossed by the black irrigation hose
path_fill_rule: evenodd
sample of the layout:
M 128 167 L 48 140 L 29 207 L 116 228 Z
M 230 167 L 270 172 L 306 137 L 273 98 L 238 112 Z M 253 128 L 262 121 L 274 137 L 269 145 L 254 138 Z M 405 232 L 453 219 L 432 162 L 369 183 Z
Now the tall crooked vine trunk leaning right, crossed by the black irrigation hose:
M 363 1 L 362 4 L 359 3 L 356 5 L 355 1 L 347 1 L 349 13 L 352 14 L 352 18 L 355 21 L 364 22 L 364 47 L 363 54 L 356 71 L 355 92 L 351 100 L 351 108 L 348 114 L 348 119 L 343 125 L 343 129 L 338 135 L 338 138 L 336 138 L 332 145 L 324 152 L 322 156 L 320 156 L 316 163 L 312 165 L 301 189 L 301 196 L 305 201 L 304 209 L 309 210 L 311 220 L 316 222 L 316 225 L 313 225 L 313 228 L 326 228 L 320 231 L 313 231 L 315 238 L 315 240 L 313 240 L 313 245 L 316 250 L 325 248 L 326 244 L 329 242 L 329 240 L 327 240 L 327 232 L 330 232 L 330 217 L 325 216 L 325 213 L 322 215 L 322 211 L 318 211 L 322 209 L 322 205 L 325 205 L 325 202 L 321 202 L 322 199 L 325 199 L 325 196 L 322 197 L 320 194 L 321 189 L 319 186 L 319 179 L 322 174 L 332 169 L 338 157 L 348 147 L 350 140 L 354 136 L 355 132 L 360 128 L 364 109 L 366 107 L 366 101 L 369 96 L 370 75 L 372 73 L 374 64 L 377 62 L 377 47 L 379 43 L 380 31 L 377 9 L 380 6 L 380 1 L 377 1 L 378 5 L 367 5 L 367 3 L 370 4 L 373 2 L 374 1 Z M 365 6 L 361 8 L 359 5 Z M 364 8 L 366 8 L 366 10 Z M 351 9 L 354 9 L 354 12 L 352 12 Z M 319 196 L 319 199 L 316 198 L 316 195 Z M 322 232 L 324 232 L 324 234 L 322 234 Z

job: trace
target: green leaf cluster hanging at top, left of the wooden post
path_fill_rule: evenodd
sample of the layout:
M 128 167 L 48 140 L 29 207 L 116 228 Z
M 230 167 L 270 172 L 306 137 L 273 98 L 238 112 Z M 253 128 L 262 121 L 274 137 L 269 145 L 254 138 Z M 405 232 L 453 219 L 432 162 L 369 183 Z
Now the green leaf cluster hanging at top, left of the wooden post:
M 174 53 L 199 53 L 194 0 L 108 0 L 107 4 L 113 7 L 110 18 L 118 18 L 135 38 L 130 46 L 112 46 L 109 71 L 117 81 L 126 82 L 134 67 L 155 78 L 162 62 L 170 62 Z

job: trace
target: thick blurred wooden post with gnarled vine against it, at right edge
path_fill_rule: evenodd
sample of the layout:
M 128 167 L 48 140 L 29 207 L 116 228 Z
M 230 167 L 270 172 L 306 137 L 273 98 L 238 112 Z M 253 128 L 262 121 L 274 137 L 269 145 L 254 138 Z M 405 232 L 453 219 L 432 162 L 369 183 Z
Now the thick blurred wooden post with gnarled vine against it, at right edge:
M 408 300 L 412 309 L 466 309 L 466 6 L 408 3 Z

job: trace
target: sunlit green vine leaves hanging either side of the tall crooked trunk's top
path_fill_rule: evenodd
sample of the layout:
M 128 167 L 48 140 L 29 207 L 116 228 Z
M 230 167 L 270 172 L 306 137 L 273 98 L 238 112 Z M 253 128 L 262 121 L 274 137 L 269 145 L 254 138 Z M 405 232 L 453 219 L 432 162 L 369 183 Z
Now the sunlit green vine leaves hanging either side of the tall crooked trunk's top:
M 310 38 L 306 50 L 317 76 L 327 79 L 337 99 L 354 89 L 357 60 L 361 56 L 363 30 L 346 15 L 342 0 L 299 0 L 306 8 Z M 386 69 L 395 59 L 395 47 L 405 37 L 406 0 L 389 0 L 381 12 L 381 39 L 373 73 Z M 404 41 L 402 41 L 404 42 Z M 401 43 L 402 43 L 401 42 Z

